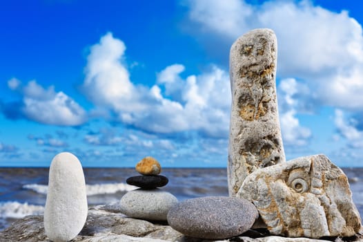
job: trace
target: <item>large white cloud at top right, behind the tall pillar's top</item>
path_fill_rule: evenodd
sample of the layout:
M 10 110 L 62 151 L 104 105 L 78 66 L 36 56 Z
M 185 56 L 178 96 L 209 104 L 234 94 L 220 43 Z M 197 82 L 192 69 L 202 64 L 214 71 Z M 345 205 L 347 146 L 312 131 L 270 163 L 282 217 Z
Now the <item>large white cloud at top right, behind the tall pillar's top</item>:
M 273 29 L 279 45 L 278 73 L 285 77 L 335 72 L 363 60 L 362 26 L 346 11 L 331 12 L 306 0 L 187 3 L 190 21 L 228 45 L 253 28 Z

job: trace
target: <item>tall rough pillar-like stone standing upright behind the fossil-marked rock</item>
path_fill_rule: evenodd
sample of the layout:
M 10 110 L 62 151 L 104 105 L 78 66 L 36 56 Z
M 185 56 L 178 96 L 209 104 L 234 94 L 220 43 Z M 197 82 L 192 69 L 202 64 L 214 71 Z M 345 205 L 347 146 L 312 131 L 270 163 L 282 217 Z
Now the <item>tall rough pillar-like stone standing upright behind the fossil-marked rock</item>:
M 276 55 L 276 36 L 269 29 L 247 32 L 230 48 L 230 196 L 256 169 L 286 161 L 277 111 Z

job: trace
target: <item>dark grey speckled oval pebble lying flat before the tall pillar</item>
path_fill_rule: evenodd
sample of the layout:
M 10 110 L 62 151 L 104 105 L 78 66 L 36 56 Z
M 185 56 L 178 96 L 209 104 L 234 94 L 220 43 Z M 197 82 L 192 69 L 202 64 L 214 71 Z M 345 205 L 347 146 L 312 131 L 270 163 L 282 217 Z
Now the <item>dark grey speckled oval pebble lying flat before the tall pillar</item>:
M 253 203 L 235 197 L 193 198 L 175 205 L 168 223 L 186 236 L 200 239 L 227 239 L 249 230 L 258 218 Z

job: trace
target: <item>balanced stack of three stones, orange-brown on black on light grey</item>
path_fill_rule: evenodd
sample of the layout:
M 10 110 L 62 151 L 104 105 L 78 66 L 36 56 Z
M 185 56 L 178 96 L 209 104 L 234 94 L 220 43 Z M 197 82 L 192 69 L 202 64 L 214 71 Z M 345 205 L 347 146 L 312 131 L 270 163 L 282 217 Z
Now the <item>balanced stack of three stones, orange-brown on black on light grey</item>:
M 168 184 L 168 178 L 159 175 L 159 162 L 155 158 L 146 157 L 137 163 L 136 171 L 141 176 L 132 176 L 126 183 L 139 189 L 130 191 L 121 198 L 121 212 L 131 218 L 166 221 L 170 208 L 178 201 L 170 192 L 158 188 Z

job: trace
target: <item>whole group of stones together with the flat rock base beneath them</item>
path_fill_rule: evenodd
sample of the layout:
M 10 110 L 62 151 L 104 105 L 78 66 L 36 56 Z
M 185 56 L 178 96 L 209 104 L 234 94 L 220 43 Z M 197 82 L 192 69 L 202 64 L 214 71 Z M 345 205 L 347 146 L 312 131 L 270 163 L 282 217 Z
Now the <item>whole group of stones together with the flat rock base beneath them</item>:
M 0 233 L 3 241 L 362 241 L 349 179 L 324 154 L 286 162 L 275 76 L 277 39 L 256 29 L 230 49 L 229 196 L 178 201 L 151 157 L 137 162 L 138 189 L 91 207 L 77 157 L 59 153 L 44 215 Z M 87 214 L 88 210 L 88 214 Z

